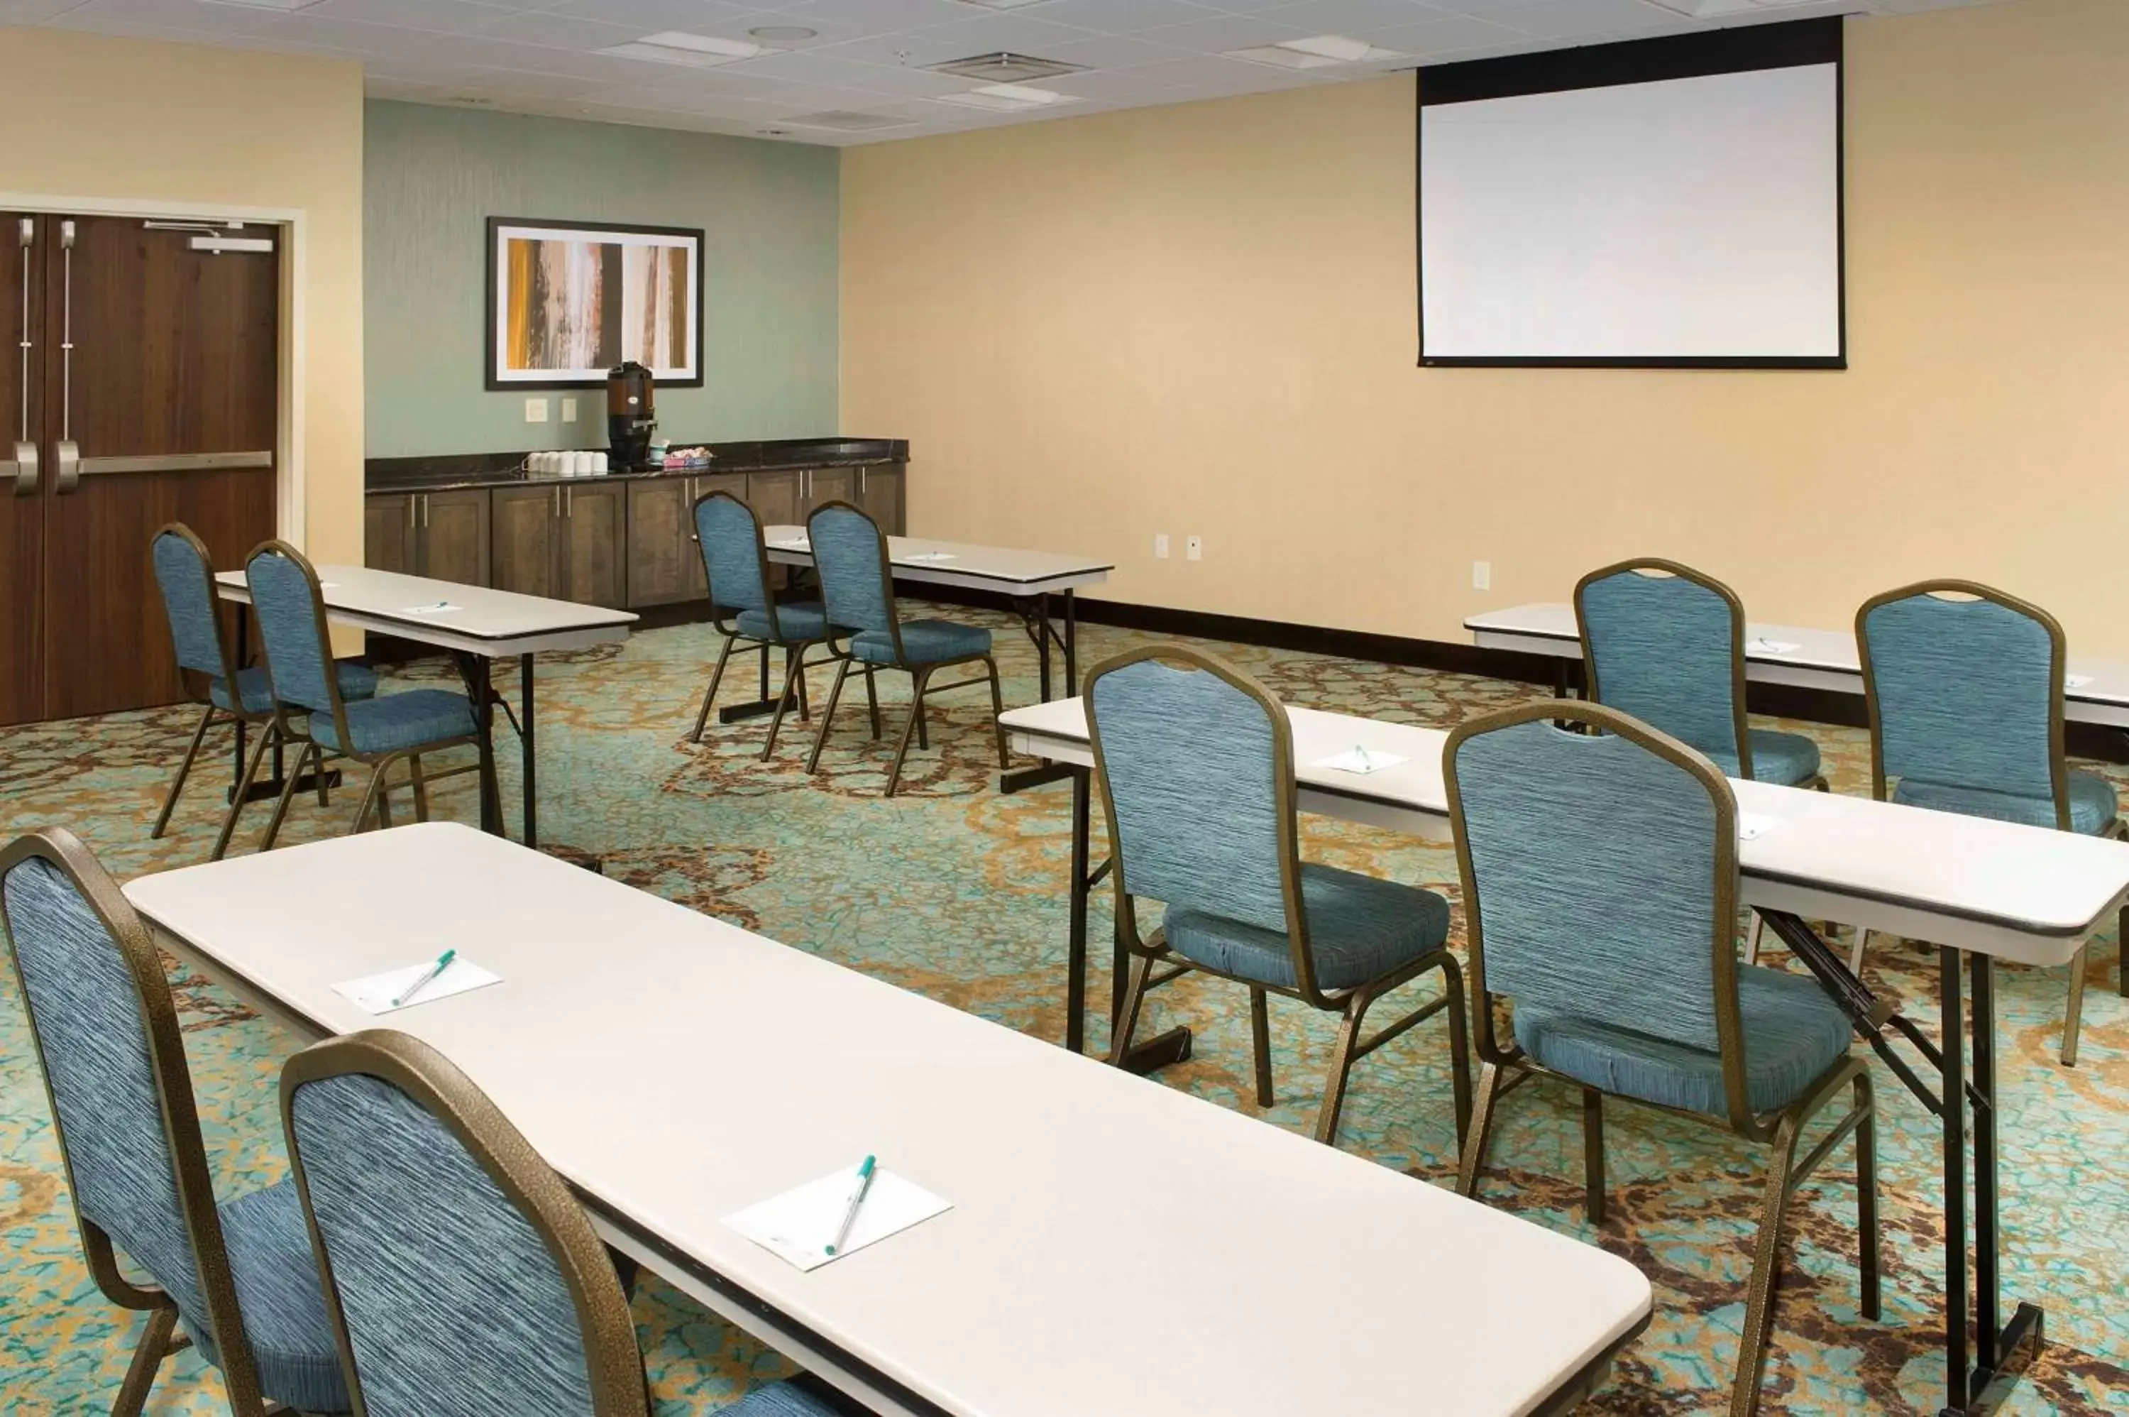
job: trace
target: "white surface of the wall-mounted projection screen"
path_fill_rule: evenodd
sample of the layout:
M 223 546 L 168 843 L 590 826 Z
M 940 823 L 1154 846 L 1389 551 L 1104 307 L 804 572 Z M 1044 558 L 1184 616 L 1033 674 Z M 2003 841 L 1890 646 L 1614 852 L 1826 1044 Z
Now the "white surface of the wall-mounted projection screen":
M 1422 358 L 1833 360 L 1839 222 L 1837 64 L 1426 104 Z

